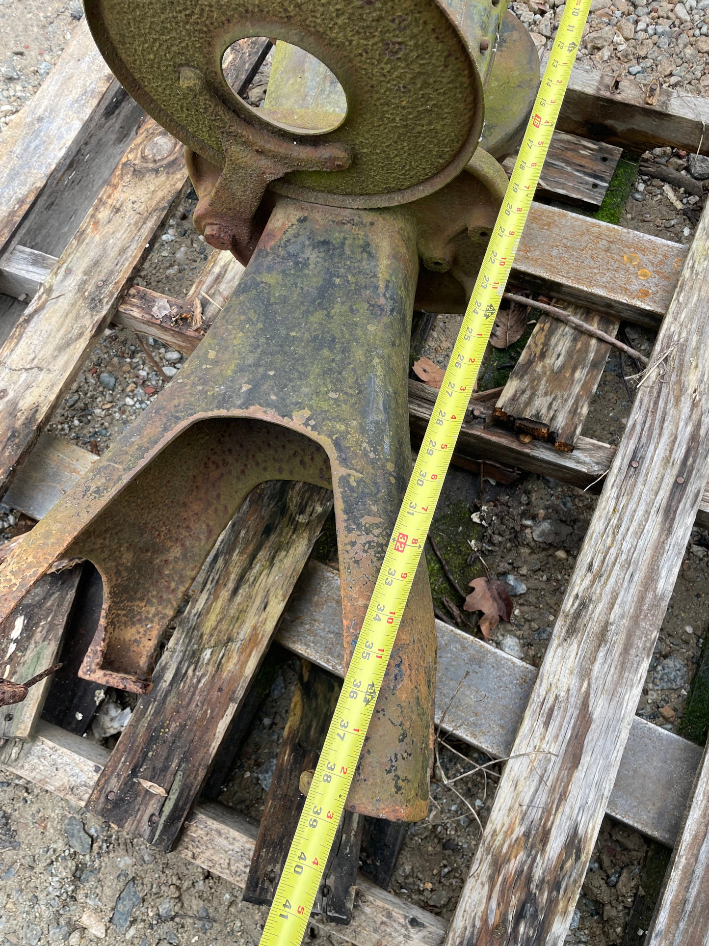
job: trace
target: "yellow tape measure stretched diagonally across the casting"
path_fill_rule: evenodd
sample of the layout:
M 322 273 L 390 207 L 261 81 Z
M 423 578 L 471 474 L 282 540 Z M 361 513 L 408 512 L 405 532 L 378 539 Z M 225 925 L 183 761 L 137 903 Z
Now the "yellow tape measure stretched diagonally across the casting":
M 539 95 L 342 685 L 260 946 L 301 946 L 591 0 L 567 0 Z

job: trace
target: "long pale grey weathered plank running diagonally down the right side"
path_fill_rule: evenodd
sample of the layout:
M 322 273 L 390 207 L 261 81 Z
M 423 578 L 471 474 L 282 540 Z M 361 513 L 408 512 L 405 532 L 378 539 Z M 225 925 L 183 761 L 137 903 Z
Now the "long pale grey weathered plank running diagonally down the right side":
M 705 210 L 586 533 L 448 946 L 563 942 L 709 465 Z M 633 465 L 634 464 L 634 465 Z

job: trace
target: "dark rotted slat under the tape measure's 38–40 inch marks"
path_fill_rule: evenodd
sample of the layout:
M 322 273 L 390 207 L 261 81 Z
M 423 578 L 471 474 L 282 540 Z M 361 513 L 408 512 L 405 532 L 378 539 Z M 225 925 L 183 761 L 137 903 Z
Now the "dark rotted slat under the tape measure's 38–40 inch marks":
M 247 902 L 273 901 L 303 811 L 302 776 L 318 764 L 339 691 L 337 677 L 303 660 L 244 888 Z M 361 815 L 342 815 L 313 906 L 314 913 L 335 922 L 352 918 L 362 822 Z

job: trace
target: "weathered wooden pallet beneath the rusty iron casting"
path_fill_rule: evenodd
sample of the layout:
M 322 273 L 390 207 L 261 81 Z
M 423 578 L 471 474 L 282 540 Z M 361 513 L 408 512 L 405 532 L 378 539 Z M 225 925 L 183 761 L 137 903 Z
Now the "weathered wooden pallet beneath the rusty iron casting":
M 248 53 L 233 63 L 244 80 L 262 51 L 254 46 Z M 600 143 L 589 144 L 586 156 L 609 155 L 615 152 L 608 146 L 696 149 L 706 121 L 706 101 L 662 90 L 659 102 L 648 106 L 635 82 L 576 68 L 560 129 Z M 214 254 L 186 298 L 168 300 L 188 311 L 199 296 L 200 329 L 155 316 L 158 294 L 131 287 L 185 184 L 182 149 L 117 86 L 84 22 L 60 65 L 6 131 L 6 141 L 0 170 L 0 483 L 6 501 L 40 518 L 93 463 L 91 454 L 43 428 L 96 336 L 108 324 L 123 324 L 190 354 L 216 315 L 212 300 L 217 292 L 230 295 L 242 268 L 231 256 Z M 558 154 L 563 147 L 558 141 Z M 26 173 L 28 154 L 32 174 Z M 584 177 L 583 168 L 564 174 L 561 157 L 556 164 L 561 177 L 555 183 L 547 173 L 547 188 L 578 200 L 584 190 L 588 198 L 590 188 L 597 201 L 599 188 L 589 184 L 598 181 L 597 167 Z M 695 520 L 709 525 L 708 241 L 706 211 L 687 249 L 534 204 L 515 282 L 584 313 L 601 312 L 584 317 L 612 334 L 620 319 L 659 330 L 655 352 L 665 356 L 664 383 L 650 376 L 640 388 L 618 447 L 583 437 L 609 346 L 567 325 L 554 324 L 552 331 L 542 321 L 497 406 L 512 426 L 520 420 L 536 424 L 546 439 L 523 443 L 514 429 L 493 426 L 493 404 L 471 402 L 457 445 L 460 463 L 506 464 L 582 487 L 596 483 L 603 492 L 538 672 L 438 622 L 437 706 L 450 703 L 465 670 L 471 674 L 445 728 L 494 758 L 516 757 L 507 764 L 476 853 L 475 884 L 466 885 L 449 931 L 360 876 L 347 927 L 351 941 L 561 943 L 606 812 L 675 846 L 660 919 L 648 941 L 666 946 L 706 937 L 701 893 L 709 880 L 709 763 L 699 747 L 652 727 L 634 709 L 689 531 Z M 410 382 L 414 438 L 423 433 L 433 399 L 430 388 Z M 220 539 L 158 666 L 153 692 L 141 700 L 112 755 L 80 738 L 71 723 L 76 713 L 57 716 L 64 728 L 40 719 L 46 682 L 0 721 L 5 765 L 94 808 L 107 791 L 134 784 L 138 772 L 150 783 L 165 783 L 166 808 L 160 795 L 133 792 L 115 813 L 117 823 L 164 848 L 177 844 L 187 858 L 247 885 L 255 832 L 223 807 L 199 803 L 199 788 L 225 730 L 248 719 L 247 684 L 274 634 L 289 651 L 342 674 L 337 575 L 307 564 L 328 502 L 301 484 L 272 484 L 252 494 Z M 298 525 L 303 517 L 306 528 Z M 242 538 L 247 521 L 269 522 L 270 539 L 251 552 Z M 276 568 L 286 576 L 278 600 L 264 592 Z M 50 662 L 62 630 L 76 623 L 77 594 L 86 615 L 92 607 L 95 612 L 94 579 L 86 569 L 80 572 L 48 575 L 22 605 L 13 675 L 23 678 L 38 660 Z M 248 648 L 240 639 L 219 637 L 225 614 L 242 628 L 253 623 Z M 164 745 L 155 751 L 154 722 L 178 721 L 181 687 L 215 699 L 214 668 L 200 664 L 199 679 L 181 673 L 215 642 L 232 648 L 234 682 L 222 688 L 218 711 L 205 723 L 210 738 L 188 740 L 178 730 L 169 751 Z M 73 686 L 73 699 L 93 700 L 83 684 L 75 680 Z M 486 695 L 484 713 L 480 694 Z M 526 854 L 518 850 L 523 836 Z

